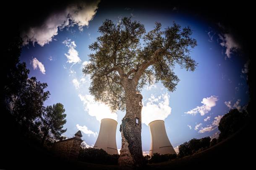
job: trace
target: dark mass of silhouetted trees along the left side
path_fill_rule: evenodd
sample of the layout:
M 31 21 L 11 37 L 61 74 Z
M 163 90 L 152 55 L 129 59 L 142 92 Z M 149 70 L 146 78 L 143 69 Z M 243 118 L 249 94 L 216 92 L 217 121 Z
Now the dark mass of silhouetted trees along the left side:
M 50 92 L 47 84 L 29 78 L 26 63 L 21 63 L 22 40 L 19 33 L 5 43 L 5 62 L 1 68 L 1 119 L 12 122 L 18 132 L 44 142 L 62 139 L 67 129 L 63 104 L 44 107 Z

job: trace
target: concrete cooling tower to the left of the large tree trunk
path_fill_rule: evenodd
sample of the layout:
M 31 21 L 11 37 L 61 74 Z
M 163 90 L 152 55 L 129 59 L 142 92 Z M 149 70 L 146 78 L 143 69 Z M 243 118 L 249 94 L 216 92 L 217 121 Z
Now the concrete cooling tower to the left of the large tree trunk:
M 115 133 L 118 122 L 114 119 L 102 119 L 99 128 L 99 135 L 94 144 L 95 149 L 103 149 L 108 154 L 118 154 Z

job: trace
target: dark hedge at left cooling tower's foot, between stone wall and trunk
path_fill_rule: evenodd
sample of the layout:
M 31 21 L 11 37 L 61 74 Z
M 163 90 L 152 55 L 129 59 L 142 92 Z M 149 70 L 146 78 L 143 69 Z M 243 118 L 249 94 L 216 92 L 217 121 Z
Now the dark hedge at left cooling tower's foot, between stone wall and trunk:
M 118 158 L 118 154 L 110 155 L 103 149 L 92 147 L 81 148 L 78 155 L 79 161 L 103 165 L 118 165 Z

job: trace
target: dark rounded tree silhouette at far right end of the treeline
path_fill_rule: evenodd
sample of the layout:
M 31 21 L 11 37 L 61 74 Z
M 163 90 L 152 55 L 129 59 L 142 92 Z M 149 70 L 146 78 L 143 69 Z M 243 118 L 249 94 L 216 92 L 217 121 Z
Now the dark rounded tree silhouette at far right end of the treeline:
M 219 141 L 229 137 L 238 131 L 248 121 L 248 114 L 245 110 L 239 112 L 238 109 L 231 109 L 219 122 Z

